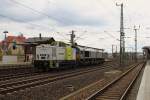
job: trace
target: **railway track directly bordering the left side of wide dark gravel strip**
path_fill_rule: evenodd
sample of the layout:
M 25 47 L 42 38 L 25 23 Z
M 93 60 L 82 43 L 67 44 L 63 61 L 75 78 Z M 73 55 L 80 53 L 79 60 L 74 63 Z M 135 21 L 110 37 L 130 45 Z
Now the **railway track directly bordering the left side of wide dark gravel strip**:
M 26 88 L 30 87 L 35 87 L 43 84 L 48 84 L 54 81 L 66 79 L 66 78 L 71 78 L 79 75 L 83 75 L 86 73 L 98 71 L 98 70 L 104 70 L 104 69 L 109 69 L 112 68 L 112 65 L 104 65 L 95 69 L 89 68 L 86 70 L 82 71 L 77 71 L 77 72 L 66 72 L 62 74 L 57 74 L 57 75 L 38 75 L 35 77 L 29 77 L 28 79 L 20 80 L 20 81 L 13 81 L 13 82 L 8 82 L 0 84 L 0 94 L 5 95 L 7 93 L 11 93 L 13 91 L 19 91 L 23 90 Z

